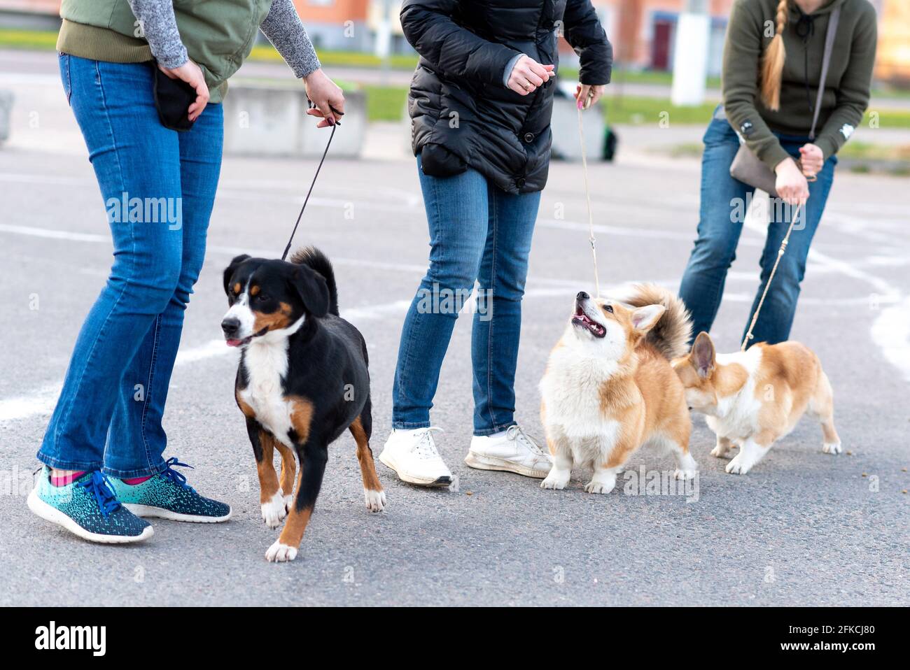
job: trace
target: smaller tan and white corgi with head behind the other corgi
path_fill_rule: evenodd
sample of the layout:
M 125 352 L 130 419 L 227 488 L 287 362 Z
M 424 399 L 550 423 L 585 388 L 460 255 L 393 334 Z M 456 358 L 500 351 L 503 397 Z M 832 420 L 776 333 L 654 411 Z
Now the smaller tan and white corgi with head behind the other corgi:
M 822 451 L 841 453 L 831 383 L 809 347 L 760 343 L 744 352 L 716 354 L 711 337 L 700 333 L 689 355 L 673 361 L 673 368 L 685 386 L 686 402 L 707 415 L 717 435 L 711 455 L 723 458 L 739 446 L 728 473 L 749 472 L 805 412 L 822 424 Z

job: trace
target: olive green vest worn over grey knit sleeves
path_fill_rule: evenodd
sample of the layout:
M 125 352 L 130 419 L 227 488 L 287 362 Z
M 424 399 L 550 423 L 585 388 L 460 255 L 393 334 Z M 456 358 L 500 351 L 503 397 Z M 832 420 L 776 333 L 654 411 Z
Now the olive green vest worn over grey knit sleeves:
M 173 0 L 180 38 L 206 76 L 210 100 L 221 102 L 227 79 L 256 40 L 272 0 Z M 126 0 L 63 0 L 57 51 L 112 63 L 152 60 Z

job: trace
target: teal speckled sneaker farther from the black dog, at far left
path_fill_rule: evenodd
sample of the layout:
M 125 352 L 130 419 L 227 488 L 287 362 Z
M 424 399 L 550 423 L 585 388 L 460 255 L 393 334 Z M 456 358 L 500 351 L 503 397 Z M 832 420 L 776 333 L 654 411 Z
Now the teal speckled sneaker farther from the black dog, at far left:
M 144 540 L 155 532 L 147 521 L 120 505 L 107 477 L 98 470 L 66 486 L 55 486 L 45 465 L 28 495 L 28 508 L 91 542 L 119 545 Z

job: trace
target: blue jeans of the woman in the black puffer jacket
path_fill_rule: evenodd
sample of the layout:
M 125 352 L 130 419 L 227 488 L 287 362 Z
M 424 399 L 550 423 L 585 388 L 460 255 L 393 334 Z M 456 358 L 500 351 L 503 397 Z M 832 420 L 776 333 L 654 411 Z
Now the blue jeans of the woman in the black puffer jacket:
M 424 175 L 420 157 L 418 173 L 430 225 L 430 268 L 401 329 L 392 426 L 430 425 L 442 359 L 476 281 L 474 435 L 492 435 L 515 424 L 521 296 L 541 194 L 507 194 L 470 168 L 450 177 Z

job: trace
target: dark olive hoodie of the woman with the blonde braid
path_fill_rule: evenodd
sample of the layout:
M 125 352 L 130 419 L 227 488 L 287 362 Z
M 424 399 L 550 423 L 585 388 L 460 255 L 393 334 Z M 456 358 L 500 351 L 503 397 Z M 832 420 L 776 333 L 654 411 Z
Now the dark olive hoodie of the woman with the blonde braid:
M 789 157 L 773 132 L 808 136 L 822 75 L 824 36 L 835 6 L 841 7 L 814 144 L 828 157 L 837 153 L 863 119 L 875 65 L 876 15 L 868 0 L 828 0 L 812 15 L 804 43 L 797 34 L 800 10 L 789 2 L 784 28 L 786 61 L 780 110 L 759 95 L 762 55 L 774 35 L 778 0 L 736 0 L 723 48 L 723 106 L 727 120 L 753 152 L 773 169 Z M 805 25 L 804 25 L 805 26 Z

